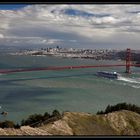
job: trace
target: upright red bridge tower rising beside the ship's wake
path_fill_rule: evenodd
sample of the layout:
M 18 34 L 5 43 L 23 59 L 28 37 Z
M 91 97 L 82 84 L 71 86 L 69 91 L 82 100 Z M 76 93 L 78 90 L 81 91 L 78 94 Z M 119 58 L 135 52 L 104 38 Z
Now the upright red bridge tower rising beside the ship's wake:
M 127 48 L 126 50 L 126 73 L 130 74 L 130 66 L 131 66 L 131 50 Z

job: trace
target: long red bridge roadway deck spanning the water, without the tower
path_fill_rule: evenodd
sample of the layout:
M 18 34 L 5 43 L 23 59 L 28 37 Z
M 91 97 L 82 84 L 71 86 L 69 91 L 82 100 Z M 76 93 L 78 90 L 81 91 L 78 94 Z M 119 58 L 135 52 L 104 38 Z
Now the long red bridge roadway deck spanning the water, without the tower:
M 6 73 L 15 73 L 15 72 L 28 72 L 28 71 L 42 71 L 42 70 L 64 70 L 64 69 L 79 69 L 79 68 L 97 68 L 97 67 L 123 67 L 126 64 L 118 65 L 79 65 L 79 66 L 49 66 L 42 68 L 19 68 L 19 69 L 5 69 L 0 70 L 1 74 Z M 131 64 L 130 66 L 140 67 L 140 64 Z

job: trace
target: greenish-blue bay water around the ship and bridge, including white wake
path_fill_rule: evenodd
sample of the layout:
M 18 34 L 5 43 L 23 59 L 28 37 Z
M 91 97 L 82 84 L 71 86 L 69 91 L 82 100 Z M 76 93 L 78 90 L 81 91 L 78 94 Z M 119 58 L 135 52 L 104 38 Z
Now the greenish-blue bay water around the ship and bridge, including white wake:
M 43 56 L 0 56 L 0 69 L 32 68 L 68 65 L 123 64 L 121 61 L 95 61 Z M 118 80 L 99 78 L 99 70 L 117 71 Z M 34 113 L 52 110 L 96 113 L 108 104 L 119 102 L 140 105 L 140 68 L 131 75 L 124 67 L 89 68 L 59 71 L 34 71 L 0 75 L 0 111 L 20 122 Z

